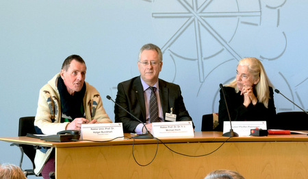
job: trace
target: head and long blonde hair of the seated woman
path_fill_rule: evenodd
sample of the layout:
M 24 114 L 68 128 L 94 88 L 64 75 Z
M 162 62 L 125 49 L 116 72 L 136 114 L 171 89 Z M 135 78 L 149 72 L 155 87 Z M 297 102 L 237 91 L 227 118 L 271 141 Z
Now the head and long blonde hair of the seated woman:
M 272 86 L 263 64 L 257 58 L 243 58 L 238 62 L 236 69 L 236 77 L 230 84 L 238 93 L 242 91 L 244 85 L 253 86 L 258 102 L 261 102 L 268 108 L 268 99 L 270 99 L 270 91 L 268 86 Z

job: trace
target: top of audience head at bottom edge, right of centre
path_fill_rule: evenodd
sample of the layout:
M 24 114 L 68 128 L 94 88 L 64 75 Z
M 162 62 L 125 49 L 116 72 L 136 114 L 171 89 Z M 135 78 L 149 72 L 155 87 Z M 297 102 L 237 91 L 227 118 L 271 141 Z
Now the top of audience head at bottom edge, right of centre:
M 204 179 L 245 179 L 238 171 L 218 169 L 211 171 Z

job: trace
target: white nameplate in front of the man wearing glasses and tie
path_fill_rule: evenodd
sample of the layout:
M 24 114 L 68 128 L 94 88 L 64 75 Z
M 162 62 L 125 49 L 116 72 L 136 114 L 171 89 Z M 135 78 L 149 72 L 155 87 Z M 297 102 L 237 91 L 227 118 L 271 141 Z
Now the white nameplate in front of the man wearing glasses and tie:
M 152 123 L 152 132 L 155 137 L 194 136 L 192 121 Z

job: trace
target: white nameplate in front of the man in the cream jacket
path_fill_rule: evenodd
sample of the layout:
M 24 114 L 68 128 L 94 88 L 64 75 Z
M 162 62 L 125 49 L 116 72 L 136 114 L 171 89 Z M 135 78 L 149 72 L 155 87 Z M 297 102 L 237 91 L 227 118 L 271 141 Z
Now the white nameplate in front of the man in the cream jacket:
M 114 139 L 120 136 L 124 136 L 122 123 L 81 124 L 81 139 L 83 140 L 98 141 L 102 139 Z

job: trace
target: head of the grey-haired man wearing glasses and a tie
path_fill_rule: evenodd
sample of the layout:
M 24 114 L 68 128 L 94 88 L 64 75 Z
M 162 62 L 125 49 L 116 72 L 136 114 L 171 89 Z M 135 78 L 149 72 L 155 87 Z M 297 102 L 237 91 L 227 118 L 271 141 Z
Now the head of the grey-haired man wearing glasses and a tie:
M 142 46 L 138 57 L 138 69 L 146 84 L 153 86 L 157 82 L 159 72 L 162 71 L 162 51 L 159 47 L 153 44 Z

